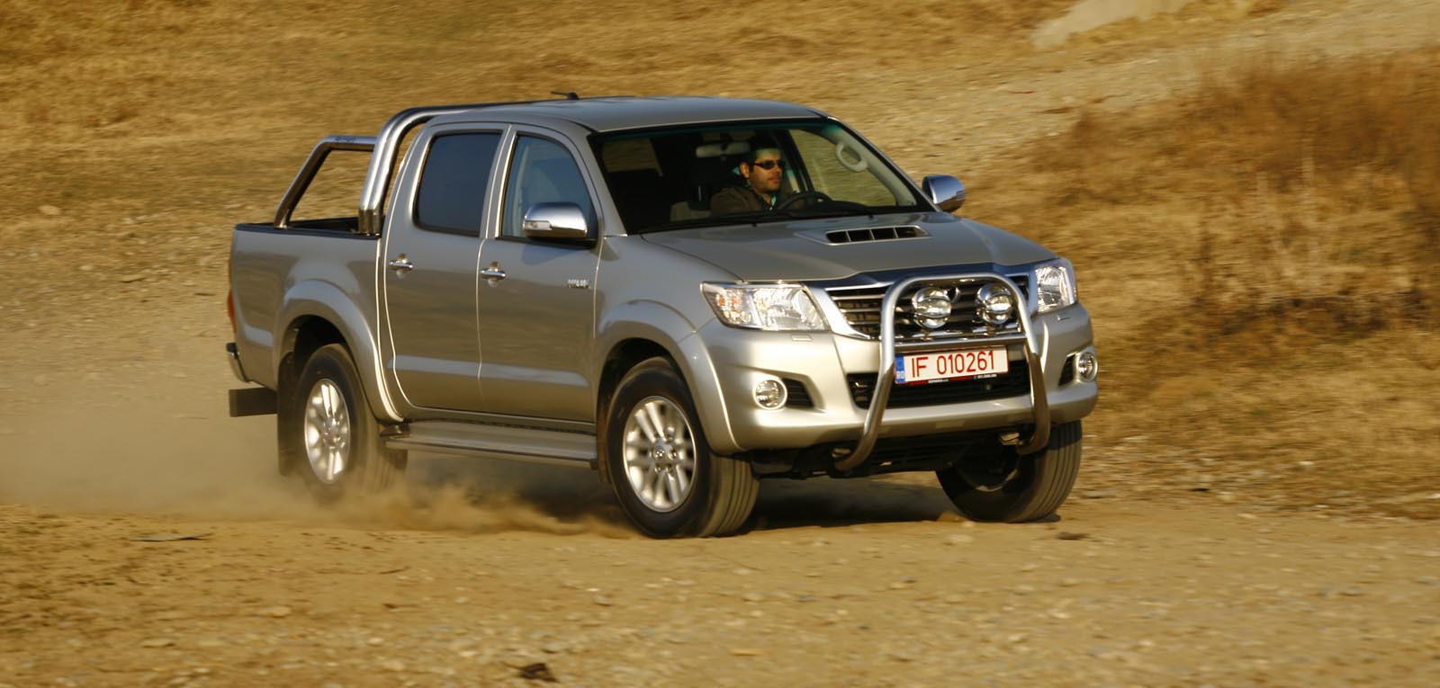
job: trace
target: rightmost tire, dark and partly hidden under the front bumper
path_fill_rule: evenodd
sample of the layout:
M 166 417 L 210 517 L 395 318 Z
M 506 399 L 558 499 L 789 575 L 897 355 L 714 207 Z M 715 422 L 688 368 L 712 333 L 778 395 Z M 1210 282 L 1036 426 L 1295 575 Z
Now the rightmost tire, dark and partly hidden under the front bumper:
M 962 458 L 936 471 L 955 508 L 972 521 L 1027 522 L 1056 512 L 1080 474 L 1080 422 L 1057 425 L 1050 446 L 1015 456 L 996 446 L 982 456 Z

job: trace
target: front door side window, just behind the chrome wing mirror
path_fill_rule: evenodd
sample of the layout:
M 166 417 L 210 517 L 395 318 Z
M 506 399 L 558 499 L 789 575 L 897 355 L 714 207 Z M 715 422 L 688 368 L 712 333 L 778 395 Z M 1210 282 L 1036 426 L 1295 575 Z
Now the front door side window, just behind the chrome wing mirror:
M 521 135 L 516 140 L 516 155 L 510 163 L 510 180 L 505 183 L 501 236 L 526 236 L 520 222 L 524 220 L 530 206 L 562 202 L 580 206 L 580 212 L 592 223 L 595 222 L 590 191 L 585 189 L 580 166 L 570 157 L 570 151 L 554 141 Z

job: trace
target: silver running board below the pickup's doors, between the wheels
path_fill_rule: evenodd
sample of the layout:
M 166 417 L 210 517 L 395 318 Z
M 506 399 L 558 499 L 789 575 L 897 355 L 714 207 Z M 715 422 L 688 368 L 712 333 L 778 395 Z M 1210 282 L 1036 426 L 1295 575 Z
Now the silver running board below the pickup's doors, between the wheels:
M 595 468 L 595 435 L 507 425 L 419 420 L 403 435 L 386 438 L 390 449 L 524 461 L 552 466 Z

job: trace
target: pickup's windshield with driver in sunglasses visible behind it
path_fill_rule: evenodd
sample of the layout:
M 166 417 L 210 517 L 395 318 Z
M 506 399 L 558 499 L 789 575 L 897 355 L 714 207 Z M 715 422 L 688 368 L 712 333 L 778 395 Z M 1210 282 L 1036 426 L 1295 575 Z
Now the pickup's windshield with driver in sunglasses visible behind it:
M 834 121 L 619 132 L 595 154 L 629 233 L 929 210 Z

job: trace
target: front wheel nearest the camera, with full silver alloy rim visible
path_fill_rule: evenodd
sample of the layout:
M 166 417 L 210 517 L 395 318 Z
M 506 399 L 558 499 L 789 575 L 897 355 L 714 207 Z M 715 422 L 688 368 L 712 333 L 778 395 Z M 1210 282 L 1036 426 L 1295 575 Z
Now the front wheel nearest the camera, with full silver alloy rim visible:
M 749 463 L 710 451 L 690 389 L 665 358 L 621 379 L 603 449 L 621 508 L 649 537 L 729 535 L 750 518 L 760 482 Z

